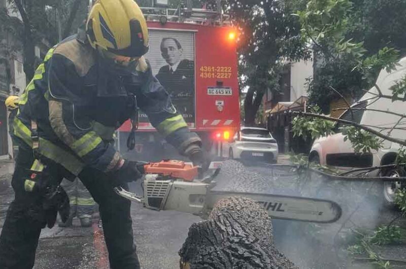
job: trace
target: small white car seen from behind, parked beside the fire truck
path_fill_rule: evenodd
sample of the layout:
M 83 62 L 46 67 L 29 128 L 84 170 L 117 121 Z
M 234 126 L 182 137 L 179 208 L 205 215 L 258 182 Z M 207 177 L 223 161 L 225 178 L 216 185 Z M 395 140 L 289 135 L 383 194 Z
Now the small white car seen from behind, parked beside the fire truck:
M 264 128 L 241 127 L 223 150 L 228 151 L 230 159 L 276 162 L 278 157 L 278 144 Z

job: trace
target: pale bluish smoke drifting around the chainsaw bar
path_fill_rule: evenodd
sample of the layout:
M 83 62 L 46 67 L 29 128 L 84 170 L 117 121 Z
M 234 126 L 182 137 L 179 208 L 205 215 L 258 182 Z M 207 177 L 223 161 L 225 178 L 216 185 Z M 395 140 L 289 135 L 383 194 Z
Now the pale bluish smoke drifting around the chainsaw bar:
M 354 230 L 374 228 L 382 217 L 380 182 L 336 180 L 290 165 L 269 166 L 267 175 L 248 170 L 240 162 L 224 162 L 215 190 L 328 199 L 341 206 L 342 216 L 334 223 L 272 220 L 276 247 L 299 268 L 347 268 L 346 246 Z

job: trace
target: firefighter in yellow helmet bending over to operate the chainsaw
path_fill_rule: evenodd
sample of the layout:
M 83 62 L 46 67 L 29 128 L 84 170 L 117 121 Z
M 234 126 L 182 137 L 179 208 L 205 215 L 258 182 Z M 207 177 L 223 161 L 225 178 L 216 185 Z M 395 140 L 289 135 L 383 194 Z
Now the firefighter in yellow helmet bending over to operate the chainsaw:
M 147 24 L 133 0 L 96 1 L 86 32 L 48 51 L 20 97 L 14 121 L 21 144 L 12 179 L 15 199 L 0 236 L 0 268 L 32 268 L 41 229 L 52 227 L 57 210 L 65 208 L 62 199 L 43 193 L 61 193 L 55 185 L 76 177 L 99 205 L 111 268 L 140 268 L 130 201 L 113 187 L 128 188 L 144 166 L 122 158 L 113 132 L 136 113 L 137 101 L 168 143 L 203 169 L 209 163 L 201 140 L 152 75 L 147 51 Z

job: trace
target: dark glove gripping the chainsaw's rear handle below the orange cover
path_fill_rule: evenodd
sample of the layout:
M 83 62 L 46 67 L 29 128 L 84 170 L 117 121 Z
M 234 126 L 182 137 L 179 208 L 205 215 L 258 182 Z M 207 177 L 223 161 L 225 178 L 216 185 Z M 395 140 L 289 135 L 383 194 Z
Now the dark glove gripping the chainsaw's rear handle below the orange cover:
M 121 167 L 111 174 L 113 187 L 142 178 L 143 174 L 145 173 L 144 165 L 145 163 L 124 160 Z

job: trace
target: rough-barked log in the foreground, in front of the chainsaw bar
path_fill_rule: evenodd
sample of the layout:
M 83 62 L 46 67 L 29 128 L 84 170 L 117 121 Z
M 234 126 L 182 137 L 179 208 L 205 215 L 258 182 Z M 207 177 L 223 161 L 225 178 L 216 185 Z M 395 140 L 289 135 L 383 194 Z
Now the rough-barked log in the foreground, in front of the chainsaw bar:
M 272 223 L 254 201 L 218 201 L 207 221 L 192 224 L 179 251 L 181 269 L 298 269 L 273 244 Z

